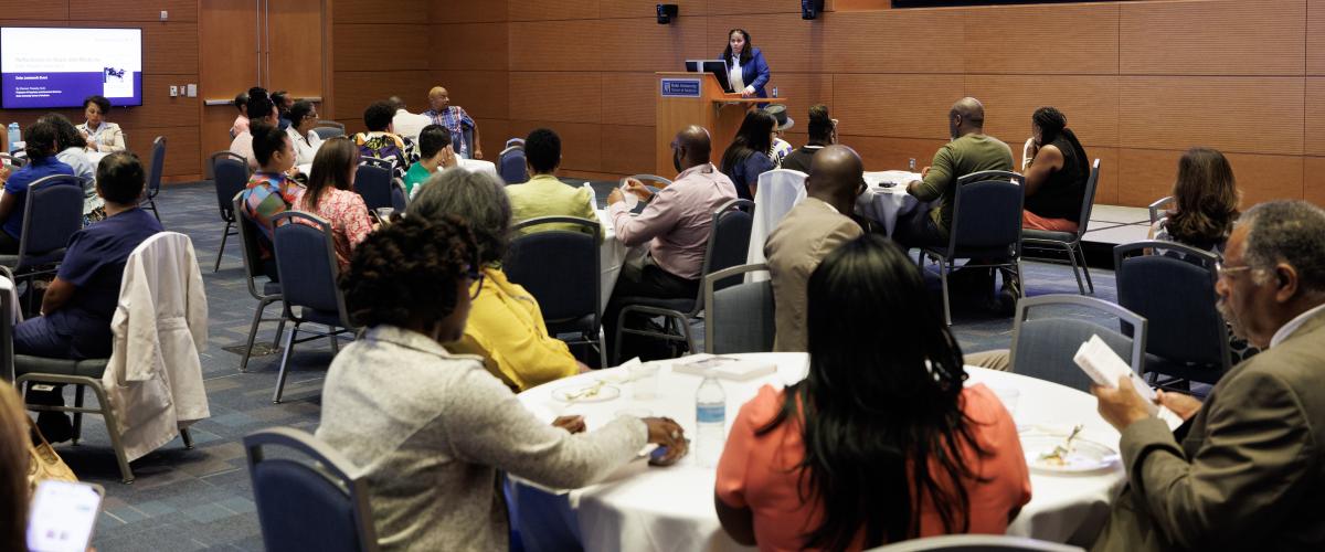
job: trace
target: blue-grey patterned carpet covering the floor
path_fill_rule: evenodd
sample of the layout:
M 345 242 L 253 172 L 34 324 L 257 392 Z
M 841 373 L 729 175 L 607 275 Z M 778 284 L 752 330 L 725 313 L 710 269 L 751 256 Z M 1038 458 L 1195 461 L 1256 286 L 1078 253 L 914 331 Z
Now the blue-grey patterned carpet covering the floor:
M 595 188 L 606 196 L 610 185 L 604 183 Z M 331 352 L 325 340 L 299 345 L 292 357 L 285 402 L 273 405 L 272 391 L 280 356 L 256 356 L 249 361 L 248 373 L 238 373 L 240 356 L 231 352 L 244 343 L 256 300 L 245 287 L 233 237 L 227 245 L 220 271 L 212 273 L 223 228 L 212 187 L 168 187 L 158 197 L 158 205 L 166 229 L 188 234 L 203 265 L 211 322 L 208 348 L 203 352 L 203 375 L 212 416 L 193 426 L 193 450 L 186 450 L 176 439 L 134 462 L 136 481 L 132 484 L 119 482 L 99 417 L 85 420 L 81 445 L 60 445 L 58 451 L 80 478 L 106 487 L 105 510 L 93 543 L 101 552 L 262 549 L 240 439 L 270 426 L 313 432 L 318 424 L 319 391 Z M 1076 293 L 1076 282 L 1067 267 L 1027 263 L 1026 270 L 1031 295 Z M 1096 297 L 1114 300 L 1113 274 L 1105 270 L 1093 270 L 1092 274 Z M 931 283 L 937 304 L 937 278 L 931 278 Z M 270 307 L 269 314 L 274 315 L 277 308 Z M 955 302 L 954 320 L 963 349 L 1006 348 L 1011 340 L 1008 318 L 992 316 Z M 881 319 L 880 323 L 902 320 Z M 258 340 L 270 343 L 274 331 L 274 324 L 264 324 Z

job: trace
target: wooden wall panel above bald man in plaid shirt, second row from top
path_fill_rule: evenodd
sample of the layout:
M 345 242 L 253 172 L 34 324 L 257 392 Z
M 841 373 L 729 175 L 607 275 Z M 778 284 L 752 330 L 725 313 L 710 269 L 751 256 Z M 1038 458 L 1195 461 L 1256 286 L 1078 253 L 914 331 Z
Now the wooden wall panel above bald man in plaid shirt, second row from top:
M 509 68 L 510 29 L 505 23 L 466 23 L 428 28 L 432 69 L 504 71 Z M 464 44 L 465 48 L 454 48 Z

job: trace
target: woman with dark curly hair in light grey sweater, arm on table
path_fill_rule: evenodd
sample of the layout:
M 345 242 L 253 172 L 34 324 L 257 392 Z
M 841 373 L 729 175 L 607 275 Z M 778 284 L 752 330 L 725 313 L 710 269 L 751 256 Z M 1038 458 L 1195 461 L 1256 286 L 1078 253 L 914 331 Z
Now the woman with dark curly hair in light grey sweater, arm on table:
M 384 551 L 506 549 L 497 470 L 572 488 L 645 442 L 669 447 L 664 463 L 686 451 L 668 418 L 619 417 L 591 433 L 579 417 L 546 425 L 478 357 L 443 348 L 464 332 L 477 278 L 462 221 L 412 217 L 370 234 L 341 281 L 367 331 L 331 363 L 317 437 L 367 478 Z

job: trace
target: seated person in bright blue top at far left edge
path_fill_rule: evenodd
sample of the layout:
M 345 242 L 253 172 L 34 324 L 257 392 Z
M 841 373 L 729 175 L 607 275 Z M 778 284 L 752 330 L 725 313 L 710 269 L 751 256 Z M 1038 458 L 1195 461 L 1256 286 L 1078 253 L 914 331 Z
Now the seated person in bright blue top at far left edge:
M 73 175 L 69 164 L 56 158 L 60 151 L 60 131 L 49 120 L 38 120 L 23 135 L 28 142 L 28 164 L 15 171 L 4 181 L 0 195 L 0 254 L 19 254 L 23 237 L 23 212 L 28 204 L 28 185 L 52 175 Z

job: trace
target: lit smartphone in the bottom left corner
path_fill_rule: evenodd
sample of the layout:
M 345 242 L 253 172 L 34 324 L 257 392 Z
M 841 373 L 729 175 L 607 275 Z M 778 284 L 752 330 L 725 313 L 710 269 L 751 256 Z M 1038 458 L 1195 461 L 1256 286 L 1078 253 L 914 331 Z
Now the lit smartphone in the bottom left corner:
M 28 512 L 28 549 L 86 552 L 106 490 L 94 483 L 37 483 Z

